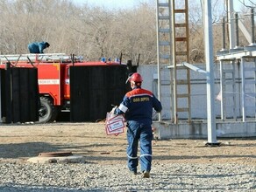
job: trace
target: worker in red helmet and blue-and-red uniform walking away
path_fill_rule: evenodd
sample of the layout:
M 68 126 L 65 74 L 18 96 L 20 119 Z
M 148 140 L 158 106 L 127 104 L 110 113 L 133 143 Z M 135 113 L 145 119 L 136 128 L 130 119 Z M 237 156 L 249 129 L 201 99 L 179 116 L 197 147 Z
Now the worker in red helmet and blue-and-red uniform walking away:
M 121 104 L 114 113 L 124 114 L 127 123 L 127 157 L 128 168 L 133 175 L 137 175 L 140 162 L 142 176 L 150 177 L 152 166 L 152 141 L 153 141 L 153 108 L 160 113 L 162 106 L 160 100 L 150 91 L 141 88 L 142 77 L 135 72 L 129 78 L 132 91 L 124 95 Z M 140 157 L 138 154 L 140 147 Z

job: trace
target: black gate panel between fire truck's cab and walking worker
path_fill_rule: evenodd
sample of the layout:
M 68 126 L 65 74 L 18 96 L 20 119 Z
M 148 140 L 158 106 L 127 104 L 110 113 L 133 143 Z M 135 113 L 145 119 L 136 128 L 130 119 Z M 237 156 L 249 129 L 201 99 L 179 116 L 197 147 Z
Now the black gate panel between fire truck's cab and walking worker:
M 126 65 L 71 66 L 70 120 L 104 120 L 128 91 Z

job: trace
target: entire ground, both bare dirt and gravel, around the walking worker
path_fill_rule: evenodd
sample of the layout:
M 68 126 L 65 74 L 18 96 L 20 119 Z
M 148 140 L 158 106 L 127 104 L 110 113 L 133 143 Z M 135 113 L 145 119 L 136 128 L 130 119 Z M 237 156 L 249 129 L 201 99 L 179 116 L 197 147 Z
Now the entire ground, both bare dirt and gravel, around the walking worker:
M 16 191 L 245 191 L 256 192 L 256 141 L 153 141 L 150 178 L 126 168 L 125 134 L 106 135 L 104 124 L 0 125 L 0 192 Z M 42 152 L 72 151 L 83 163 L 34 164 Z

